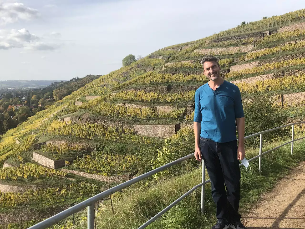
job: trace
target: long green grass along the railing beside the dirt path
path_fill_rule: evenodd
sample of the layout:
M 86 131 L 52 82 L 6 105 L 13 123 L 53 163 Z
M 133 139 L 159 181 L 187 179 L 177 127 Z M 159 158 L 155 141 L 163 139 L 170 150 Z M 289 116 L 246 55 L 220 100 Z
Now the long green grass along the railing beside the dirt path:
M 283 142 L 275 142 L 263 148 L 271 149 Z M 305 141 L 295 142 L 294 154 L 290 155 L 290 144 L 262 158 L 262 173 L 258 173 L 258 160 L 250 162 L 251 172 L 242 167 L 240 212 L 245 214 L 260 195 L 271 191 L 277 180 L 289 173 L 290 168 L 305 160 Z M 246 157 L 252 158 L 258 149 L 247 149 Z M 146 190 L 129 189 L 129 195 L 120 200 L 113 197 L 114 214 L 109 203 L 105 203 L 96 216 L 97 228 L 137 228 L 152 216 L 176 200 L 186 191 L 199 184 L 201 169 L 182 176 L 175 176 Z M 210 183 L 206 184 L 205 214 L 200 214 L 200 188 L 175 205 L 147 228 L 210 228 L 215 222 L 215 206 L 211 198 Z M 80 223 L 82 224 L 82 223 Z M 85 224 L 73 228 L 85 228 Z

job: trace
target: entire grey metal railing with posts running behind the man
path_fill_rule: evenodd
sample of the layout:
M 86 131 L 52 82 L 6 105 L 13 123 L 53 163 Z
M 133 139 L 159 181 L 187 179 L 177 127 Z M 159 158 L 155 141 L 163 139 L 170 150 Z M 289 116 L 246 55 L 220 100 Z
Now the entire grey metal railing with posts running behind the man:
M 279 127 L 276 127 L 276 128 L 272 128 L 272 129 L 268 129 L 268 130 L 264 130 L 264 131 L 261 131 L 259 133 L 255 133 L 255 134 L 251 134 L 249 136 L 246 136 L 244 139 L 247 139 L 247 138 L 250 138 L 250 137 L 253 137 L 253 136 L 258 136 L 260 135 L 260 151 L 259 151 L 259 155 L 251 158 L 248 160 L 248 162 L 251 162 L 253 161 L 254 159 L 256 158 L 259 158 L 259 171 L 261 172 L 261 156 L 263 156 L 264 154 L 266 153 L 269 153 L 275 149 L 278 149 L 284 145 L 287 145 L 289 143 L 291 143 L 291 154 L 293 152 L 293 142 L 297 141 L 297 140 L 301 140 L 301 139 L 304 139 L 305 137 L 301 137 L 301 138 L 298 138 L 298 139 L 294 139 L 294 125 L 297 125 L 297 124 L 303 124 L 305 122 L 296 122 L 296 123 L 291 123 L 291 124 L 287 124 L 287 125 L 283 125 L 283 126 L 279 126 Z M 281 128 L 284 128 L 284 127 L 288 127 L 288 126 L 291 126 L 292 125 L 292 140 L 285 143 L 285 144 L 282 144 L 280 146 L 277 146 L 277 147 L 274 147 L 264 153 L 262 153 L 262 134 L 264 133 L 267 133 L 267 132 L 270 132 L 270 131 L 274 131 L 274 130 L 277 130 L 277 129 L 281 129 Z M 238 141 L 238 139 L 237 139 Z M 82 209 L 88 207 L 88 229 L 93 229 L 94 228 L 94 205 L 95 205 L 95 202 L 98 202 L 98 201 L 101 201 L 103 198 L 117 192 L 117 191 L 120 191 L 126 187 L 129 187 L 131 186 L 132 184 L 135 184 L 141 180 L 144 180 L 156 173 L 159 173 L 165 169 L 168 169 L 170 168 L 171 166 L 173 165 L 177 165 L 189 158 L 192 158 L 194 157 L 194 153 L 191 153 L 191 154 L 188 154 L 187 156 L 184 156 L 182 158 L 179 158 L 173 162 L 170 162 L 166 165 L 163 165 L 163 166 L 160 166 L 159 168 L 156 168 L 156 169 L 153 169 L 147 173 L 144 173 L 140 176 L 137 176 L 131 180 L 128 180 L 128 181 L 125 181 L 124 183 L 122 184 L 119 184 L 115 187 L 112 187 L 112 188 L 109 188 L 93 197 L 90 197 L 88 198 L 87 200 L 84 200 L 60 213 L 57 213 L 56 215 L 54 216 L 51 216 L 49 217 L 48 219 L 45 219 L 43 221 L 41 221 L 40 223 L 38 224 L 35 224 L 31 227 L 29 227 L 28 229 L 45 229 L 47 227 L 50 227 L 56 223 L 58 223 L 60 220 L 63 220 L 65 219 L 66 217 L 68 216 L 71 216 L 72 214 L 74 213 L 77 213 L 78 211 L 81 211 Z M 239 166 L 241 166 L 242 164 L 240 164 Z M 145 222 L 144 224 L 142 224 L 140 227 L 138 227 L 138 229 L 143 229 L 145 227 L 147 227 L 149 224 L 151 224 L 153 221 L 155 221 L 156 219 L 158 219 L 161 215 L 163 215 L 165 212 L 167 212 L 170 208 L 172 208 L 174 205 L 176 205 L 178 202 L 180 202 L 183 198 L 185 198 L 187 195 L 189 195 L 190 193 L 192 193 L 193 191 L 195 191 L 198 187 L 202 187 L 202 192 L 201 192 L 201 212 L 203 213 L 204 212 L 204 184 L 207 184 L 210 182 L 210 179 L 209 180 L 205 180 L 205 165 L 203 163 L 203 166 L 202 166 L 202 182 L 201 184 L 198 184 L 196 186 L 194 186 L 192 189 L 190 189 L 188 192 L 186 192 L 185 194 L 183 194 L 181 197 L 179 197 L 177 200 L 175 200 L 174 202 L 172 202 L 170 205 L 168 205 L 166 208 L 164 208 L 162 211 L 160 211 L 158 214 L 156 214 L 155 216 L 153 216 L 151 219 L 149 219 L 147 222 Z

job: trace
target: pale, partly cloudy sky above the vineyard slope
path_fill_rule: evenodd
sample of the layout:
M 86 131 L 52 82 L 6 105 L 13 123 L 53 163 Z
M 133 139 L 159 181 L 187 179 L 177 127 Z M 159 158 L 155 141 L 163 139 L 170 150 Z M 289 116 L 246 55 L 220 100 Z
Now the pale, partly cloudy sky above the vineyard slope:
M 302 8 L 303 0 L 0 0 L 0 79 L 105 75 L 128 54 Z

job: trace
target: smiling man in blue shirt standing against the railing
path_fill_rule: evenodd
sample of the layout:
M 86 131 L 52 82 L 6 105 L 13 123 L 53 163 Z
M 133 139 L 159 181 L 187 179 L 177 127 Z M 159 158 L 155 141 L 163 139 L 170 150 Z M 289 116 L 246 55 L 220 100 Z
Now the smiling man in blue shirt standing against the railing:
M 218 220 L 212 229 L 246 229 L 238 213 L 239 160 L 245 157 L 245 118 L 240 91 L 236 85 L 220 77 L 217 58 L 204 58 L 203 71 L 209 82 L 195 93 L 195 157 L 198 161 L 203 158 L 211 179 Z

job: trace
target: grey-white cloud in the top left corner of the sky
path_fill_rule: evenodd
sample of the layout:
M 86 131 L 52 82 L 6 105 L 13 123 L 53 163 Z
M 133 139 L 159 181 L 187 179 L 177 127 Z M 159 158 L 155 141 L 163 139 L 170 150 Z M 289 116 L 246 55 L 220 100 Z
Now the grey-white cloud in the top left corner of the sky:
M 0 2 L 0 24 L 18 22 L 19 20 L 31 20 L 40 14 L 37 9 L 26 7 L 23 3 Z

